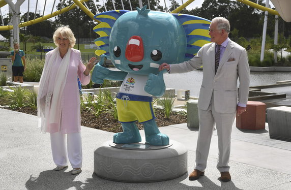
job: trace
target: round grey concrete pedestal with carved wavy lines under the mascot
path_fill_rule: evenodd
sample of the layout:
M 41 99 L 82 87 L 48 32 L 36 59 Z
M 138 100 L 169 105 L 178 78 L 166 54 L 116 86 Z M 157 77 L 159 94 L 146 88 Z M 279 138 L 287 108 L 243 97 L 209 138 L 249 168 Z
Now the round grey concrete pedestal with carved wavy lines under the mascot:
M 168 146 L 107 141 L 94 151 L 97 176 L 122 182 L 155 182 L 187 172 L 187 149 L 177 141 Z

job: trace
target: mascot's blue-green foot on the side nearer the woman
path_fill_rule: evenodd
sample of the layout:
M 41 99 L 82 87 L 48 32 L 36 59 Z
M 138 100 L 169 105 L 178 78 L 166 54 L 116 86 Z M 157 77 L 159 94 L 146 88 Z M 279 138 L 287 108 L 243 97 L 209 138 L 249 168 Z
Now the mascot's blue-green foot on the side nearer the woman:
M 131 132 L 115 133 L 113 136 L 113 143 L 116 144 L 138 143 L 140 141 L 140 135 L 134 135 L 134 133 Z

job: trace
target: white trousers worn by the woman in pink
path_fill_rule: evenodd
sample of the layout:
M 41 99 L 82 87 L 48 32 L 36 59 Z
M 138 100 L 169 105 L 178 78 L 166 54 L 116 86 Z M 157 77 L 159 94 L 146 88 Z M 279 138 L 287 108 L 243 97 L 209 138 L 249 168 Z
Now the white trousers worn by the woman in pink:
M 50 143 L 52 159 L 56 166 L 68 166 L 69 157 L 69 161 L 72 165 L 72 168 L 82 167 L 81 133 L 69 133 L 69 134 L 62 134 L 61 132 L 51 133 Z

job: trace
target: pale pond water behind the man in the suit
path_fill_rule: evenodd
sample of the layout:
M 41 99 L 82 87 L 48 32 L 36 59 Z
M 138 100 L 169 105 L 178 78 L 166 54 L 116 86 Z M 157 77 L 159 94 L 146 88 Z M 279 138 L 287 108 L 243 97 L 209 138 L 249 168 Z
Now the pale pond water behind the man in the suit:
M 290 72 L 251 72 L 250 75 L 250 86 L 276 84 L 277 81 L 291 80 Z M 198 70 L 183 74 L 164 74 L 164 81 L 167 88 L 187 89 L 190 90 L 190 96 L 198 97 L 202 77 L 203 72 Z

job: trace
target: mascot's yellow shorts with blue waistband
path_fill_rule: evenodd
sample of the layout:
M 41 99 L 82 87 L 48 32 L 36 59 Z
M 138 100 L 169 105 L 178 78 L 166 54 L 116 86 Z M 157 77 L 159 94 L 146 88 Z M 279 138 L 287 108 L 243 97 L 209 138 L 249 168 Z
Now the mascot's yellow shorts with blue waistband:
M 142 123 L 156 118 L 152 97 L 119 92 L 116 98 L 119 122 Z

